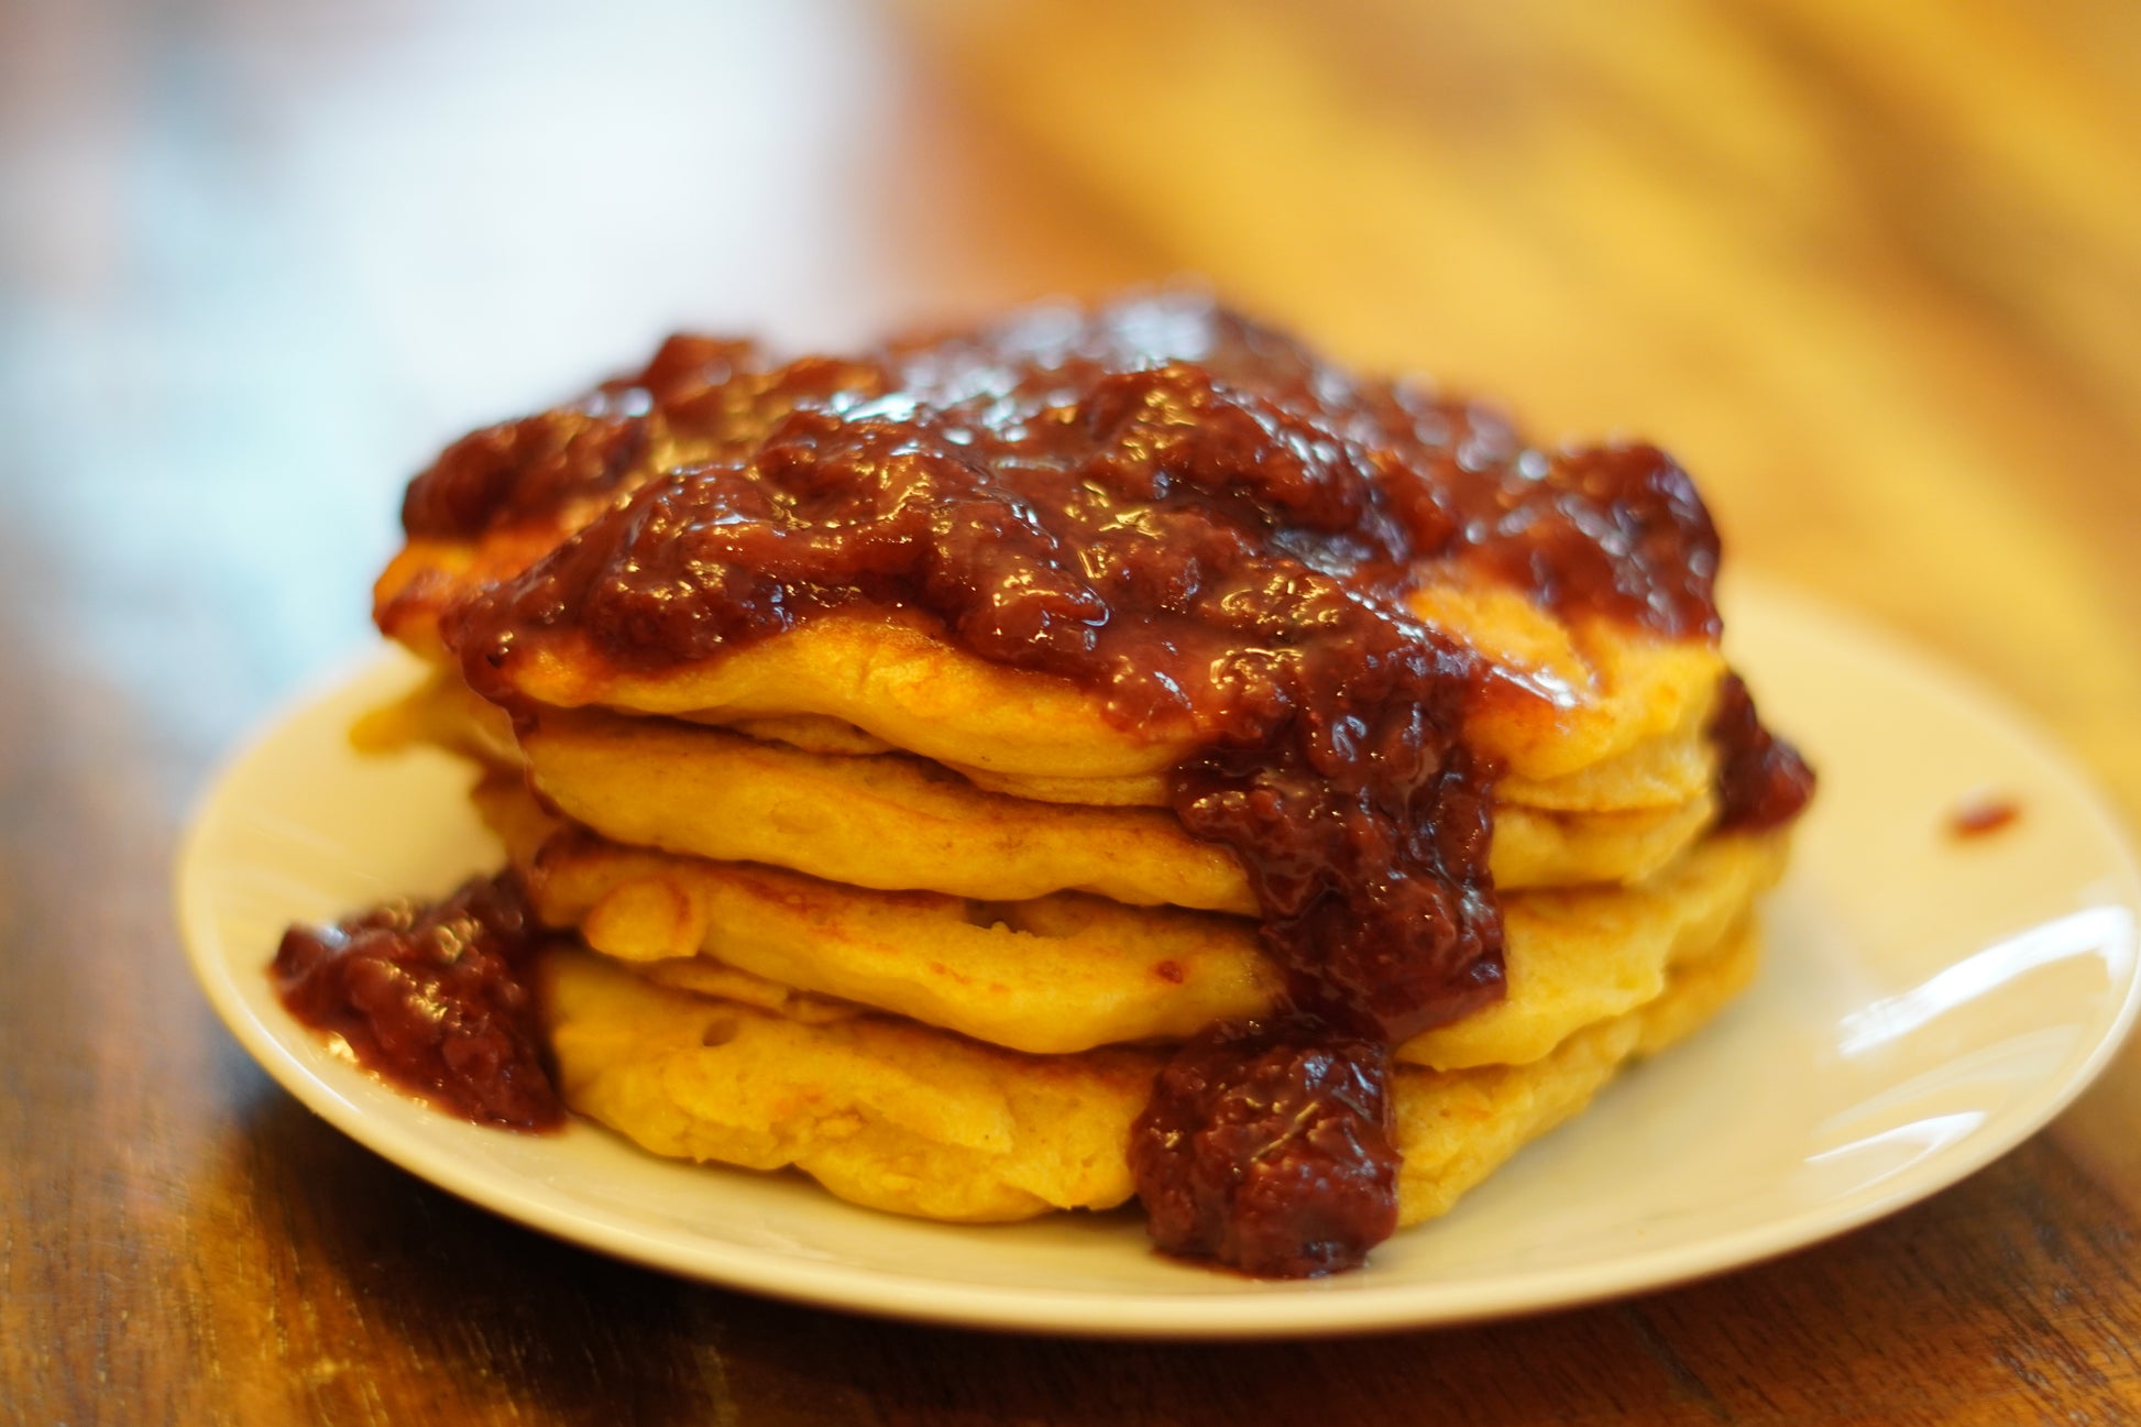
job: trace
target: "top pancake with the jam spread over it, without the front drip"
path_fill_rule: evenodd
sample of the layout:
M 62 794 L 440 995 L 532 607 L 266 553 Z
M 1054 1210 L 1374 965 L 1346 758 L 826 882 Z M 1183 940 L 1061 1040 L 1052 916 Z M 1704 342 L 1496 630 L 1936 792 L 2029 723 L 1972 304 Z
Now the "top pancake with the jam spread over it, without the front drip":
M 1368 581 L 1479 658 L 1462 737 L 1505 801 L 1661 808 L 1713 773 L 1715 536 L 1685 474 L 1527 450 L 1199 296 L 854 360 L 672 339 L 450 448 L 405 525 L 381 630 L 522 707 L 822 720 L 991 791 L 1150 806 L 1214 741 L 1212 692 L 1175 688 L 1208 677 L 1197 636 L 1287 658 Z M 1066 677 L 1081 639 L 1105 647 Z

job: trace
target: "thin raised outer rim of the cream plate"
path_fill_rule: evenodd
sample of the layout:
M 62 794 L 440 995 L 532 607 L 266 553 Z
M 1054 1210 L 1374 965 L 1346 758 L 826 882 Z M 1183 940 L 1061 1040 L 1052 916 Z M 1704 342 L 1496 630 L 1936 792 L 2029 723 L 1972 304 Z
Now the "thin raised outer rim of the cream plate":
M 2122 893 L 2128 908 L 2141 902 L 2141 866 L 2132 840 L 2109 797 L 2085 776 L 2072 756 L 2032 720 L 2019 714 L 1998 690 L 1970 671 L 1908 643 L 1858 615 L 1768 579 L 1736 579 L 1728 615 L 1745 619 L 1781 619 L 1792 626 L 1880 658 L 1888 671 L 1905 677 L 1920 692 L 1942 703 L 1961 703 L 1978 722 L 2025 748 L 2087 816 L 2090 831 L 2120 861 Z M 1760 611 L 1760 613 L 1756 613 Z M 1728 630 L 1732 619 L 1728 617 Z M 1730 632 L 1728 632 L 1730 645 Z M 2081 1065 L 2040 1101 L 2032 1101 L 2013 1123 L 1987 1127 L 1940 1151 L 1929 1163 L 1940 1174 L 1897 1174 L 1884 1185 L 1858 1189 L 1843 1200 L 1807 1206 L 1798 1213 L 1766 1219 L 1756 1226 L 1666 1245 L 1640 1256 L 1601 1260 L 1578 1268 L 1535 1268 L 1503 1279 L 1467 1279 L 1447 1283 L 1347 1283 L 1345 1292 L 1317 1292 L 1308 1283 L 1244 1281 L 1244 1292 L 1167 1292 L 1096 1294 L 1090 1290 L 1011 1288 L 927 1279 L 901 1271 L 880 1271 L 861 1264 L 839 1264 L 788 1256 L 779 1249 L 751 1245 L 704 1243 L 674 1245 L 662 1234 L 634 1230 L 625 1221 L 597 1213 L 574 1211 L 552 1198 L 499 1183 L 499 1172 L 477 1161 L 439 1157 L 422 1146 L 413 1131 L 394 1118 L 370 1114 L 304 1065 L 289 1046 L 253 1013 L 238 990 L 236 949 L 223 945 L 216 930 L 206 876 L 206 846 L 218 816 L 227 812 L 236 773 L 274 743 L 293 722 L 319 711 L 351 692 L 364 679 L 379 679 L 398 662 L 413 669 L 413 658 L 392 645 L 338 662 L 328 675 L 283 701 L 259 720 L 212 767 L 197 791 L 184 833 L 173 857 L 173 902 L 180 938 L 195 983 L 208 996 L 225 1028 L 240 1041 L 268 1076 L 300 1103 L 325 1118 L 338 1131 L 396 1163 L 409 1174 L 437 1185 L 488 1213 L 636 1262 L 662 1273 L 717 1283 L 743 1292 L 856 1311 L 878 1318 L 963 1326 L 998 1333 L 1049 1333 L 1096 1339 L 1274 1339 L 1332 1337 L 1377 1331 L 1454 1326 L 1516 1313 L 1567 1309 L 1604 1298 L 1655 1292 L 1694 1279 L 1747 1268 L 1794 1249 L 1852 1232 L 1976 1174 L 2010 1153 L 2045 1125 L 2058 1118 L 2090 1088 L 2120 1052 L 2141 1013 L 2141 975 L 2128 966 L 2124 994 L 2096 1043 Z M 1760 681 L 1760 669 L 1753 671 Z M 295 1026 L 295 1022 L 291 1022 Z M 302 1031 L 302 1028 L 300 1028 Z M 308 1033 L 306 1033 L 308 1035 Z M 351 1071 L 360 1073 L 360 1071 Z M 471 1133 L 499 1133 L 469 1125 Z M 608 1133 L 574 1123 L 567 1133 Z M 1839 1208 L 1841 1206 L 1841 1208 Z M 889 1221 L 897 1217 L 886 1215 Z M 978 1232 L 987 1232 L 985 1228 Z M 1443 1288 L 1445 1292 L 1437 1292 Z

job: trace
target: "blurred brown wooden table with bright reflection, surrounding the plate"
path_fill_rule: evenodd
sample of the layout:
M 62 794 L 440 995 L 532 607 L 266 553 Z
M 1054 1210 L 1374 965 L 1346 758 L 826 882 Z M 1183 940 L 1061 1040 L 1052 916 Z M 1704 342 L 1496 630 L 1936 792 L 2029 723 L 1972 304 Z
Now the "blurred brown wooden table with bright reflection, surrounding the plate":
M 2135 818 L 2137 133 L 2115 0 L 0 6 L 0 1423 L 2135 1421 L 2141 1050 L 1933 1200 L 1674 1292 L 987 1337 L 390 1168 L 212 1020 L 167 872 L 216 754 L 362 647 L 458 431 L 670 326 L 1171 270 L 1655 433 L 1734 559 L 1998 684 Z

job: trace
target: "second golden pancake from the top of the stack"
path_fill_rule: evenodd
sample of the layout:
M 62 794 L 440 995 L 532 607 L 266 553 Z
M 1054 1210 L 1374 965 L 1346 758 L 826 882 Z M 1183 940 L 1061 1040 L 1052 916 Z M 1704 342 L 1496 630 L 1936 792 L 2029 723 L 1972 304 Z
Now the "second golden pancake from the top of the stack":
M 1021 900 L 1079 889 L 1141 906 L 1257 911 L 1235 855 L 1190 838 L 1163 806 L 1034 801 L 912 756 L 809 752 L 666 718 L 546 714 L 516 737 L 492 705 L 471 709 L 471 701 L 458 679 L 435 679 L 368 720 L 364 741 L 422 739 L 527 767 L 567 816 L 636 846 L 895 891 Z M 762 728 L 839 743 L 837 724 Z M 1499 803 L 1488 866 L 1505 889 L 1634 883 L 1687 851 L 1713 818 L 1706 782 L 1685 803 Z

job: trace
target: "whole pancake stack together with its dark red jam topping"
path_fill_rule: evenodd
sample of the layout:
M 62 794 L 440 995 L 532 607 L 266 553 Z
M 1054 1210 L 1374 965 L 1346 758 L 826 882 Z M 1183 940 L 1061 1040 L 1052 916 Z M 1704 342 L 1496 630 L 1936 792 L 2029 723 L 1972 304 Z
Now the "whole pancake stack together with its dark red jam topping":
M 430 677 L 355 737 L 467 756 L 507 866 L 293 928 L 285 1005 L 904 1215 L 1360 1266 L 1747 983 L 1813 786 L 1672 459 L 1201 294 L 677 336 L 403 523 Z

